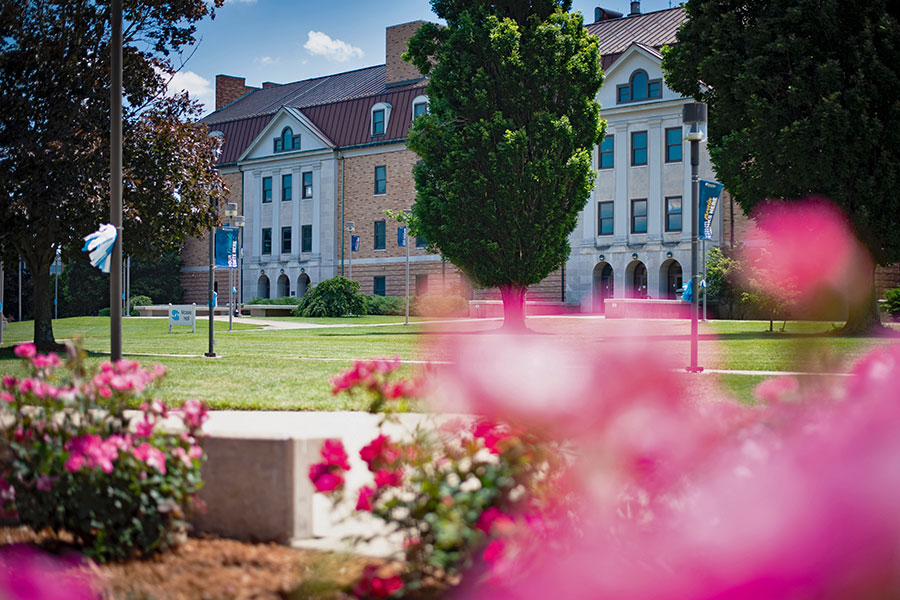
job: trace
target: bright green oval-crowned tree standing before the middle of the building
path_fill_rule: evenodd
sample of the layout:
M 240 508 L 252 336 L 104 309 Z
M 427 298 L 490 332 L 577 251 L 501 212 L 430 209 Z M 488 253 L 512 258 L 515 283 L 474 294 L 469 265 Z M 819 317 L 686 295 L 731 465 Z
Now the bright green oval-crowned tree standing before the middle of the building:
M 569 255 L 604 126 L 597 40 L 570 0 L 432 0 L 405 58 L 430 111 L 409 134 L 414 231 L 476 285 L 499 286 L 524 328 L 526 287 Z

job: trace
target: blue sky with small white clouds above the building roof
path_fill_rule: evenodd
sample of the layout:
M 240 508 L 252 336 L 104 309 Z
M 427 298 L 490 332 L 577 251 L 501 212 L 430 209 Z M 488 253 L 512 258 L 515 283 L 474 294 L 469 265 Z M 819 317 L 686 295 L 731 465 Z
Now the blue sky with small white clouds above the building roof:
M 642 0 L 641 11 L 678 2 Z M 573 2 L 586 22 L 596 6 L 630 10 L 628 0 Z M 209 111 L 217 74 L 259 86 L 383 64 L 385 27 L 416 19 L 436 20 L 428 0 L 226 0 L 215 20 L 199 25 L 202 39 L 184 53 L 187 62 L 170 87 L 186 89 Z

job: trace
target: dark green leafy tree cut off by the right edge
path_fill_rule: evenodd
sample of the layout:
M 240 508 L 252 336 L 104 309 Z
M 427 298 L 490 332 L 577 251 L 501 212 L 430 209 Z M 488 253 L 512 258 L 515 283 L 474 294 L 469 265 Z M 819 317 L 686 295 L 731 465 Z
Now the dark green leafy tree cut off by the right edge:
M 744 211 L 824 194 L 877 263 L 900 260 L 900 4 L 688 0 L 686 9 L 665 52 L 666 82 L 709 105 L 710 156 Z M 844 331 L 878 326 L 873 273 Z

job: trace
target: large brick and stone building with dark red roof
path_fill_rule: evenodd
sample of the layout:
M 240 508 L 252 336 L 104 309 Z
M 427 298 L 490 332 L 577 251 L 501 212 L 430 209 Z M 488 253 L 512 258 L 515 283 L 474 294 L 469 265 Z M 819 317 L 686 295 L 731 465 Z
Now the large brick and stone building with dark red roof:
M 587 25 L 607 74 L 598 101 L 608 135 L 595 148 L 595 189 L 570 236 L 571 256 L 532 286 L 528 299 L 597 310 L 609 295 L 674 297 L 690 255 L 692 214 L 682 201 L 690 194 L 690 165 L 680 134 L 688 99 L 662 82 L 659 49 L 675 41 L 685 18 L 680 7 L 647 14 L 637 8 L 625 17 L 598 9 Z M 415 200 L 416 156 L 405 138 L 428 99 L 425 80 L 400 55 L 421 23 L 387 28 L 384 65 L 261 88 L 216 77 L 216 111 L 203 122 L 224 139 L 219 168 L 246 217 L 241 300 L 302 295 L 323 279 L 351 275 L 350 222 L 360 236 L 352 278 L 364 293 L 404 295 L 399 223 L 384 211 Z M 702 155 L 701 177 L 713 179 L 705 148 Z M 723 212 L 717 239 L 739 222 L 729 215 L 725 230 Z M 411 293 L 495 295 L 472 291 L 423 240 L 411 241 Z M 187 301 L 205 301 L 207 253 L 203 240 L 185 247 Z M 225 289 L 227 277 L 218 273 L 217 287 Z

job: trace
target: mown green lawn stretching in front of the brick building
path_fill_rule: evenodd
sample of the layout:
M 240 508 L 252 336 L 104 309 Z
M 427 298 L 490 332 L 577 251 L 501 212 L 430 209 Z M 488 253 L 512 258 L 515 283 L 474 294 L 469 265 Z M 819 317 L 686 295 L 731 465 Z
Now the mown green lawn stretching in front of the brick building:
M 267 410 L 356 410 L 360 404 L 345 395 L 330 393 L 329 378 L 347 368 L 354 358 L 395 356 L 404 359 L 448 358 L 444 338 L 469 335 L 499 327 L 497 321 L 424 325 L 402 324 L 402 317 L 350 319 L 297 319 L 281 321 L 354 325 L 274 330 L 235 320 L 216 322 L 218 358 L 203 357 L 207 349 L 207 321 L 198 320 L 197 333 L 184 327 L 167 333 L 165 319 L 125 319 L 124 353 L 142 362 L 166 365 L 169 376 L 161 388 L 163 397 L 179 404 L 199 397 L 213 408 Z M 378 325 L 397 323 L 397 325 Z M 372 325 L 372 326 L 365 326 Z M 780 324 L 778 324 L 780 325 Z M 701 327 L 700 364 L 708 369 L 753 371 L 845 372 L 850 363 L 876 344 L 891 338 L 841 338 L 829 335 L 830 323 L 788 323 L 784 333 L 768 332 L 768 322 L 714 321 Z M 578 347 L 602 347 L 631 334 L 623 323 L 592 319 L 533 319 L 529 326 L 539 334 L 560 336 Z M 687 364 L 687 323 L 643 321 L 641 339 L 654 352 L 665 353 L 675 364 Z M 22 374 L 11 346 L 31 339 L 32 324 L 11 323 L 0 349 L 0 373 Z M 109 319 L 79 317 L 54 322 L 57 339 L 80 336 L 91 353 L 91 362 L 105 360 L 109 352 Z M 430 343 L 436 341 L 437 343 Z M 404 371 L 416 369 L 405 366 Z M 705 375 L 693 377 L 692 389 L 701 395 L 729 393 L 750 401 L 760 375 Z M 722 391 L 724 390 L 724 392 Z

